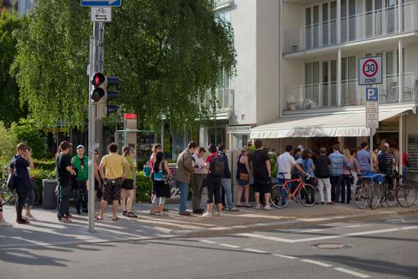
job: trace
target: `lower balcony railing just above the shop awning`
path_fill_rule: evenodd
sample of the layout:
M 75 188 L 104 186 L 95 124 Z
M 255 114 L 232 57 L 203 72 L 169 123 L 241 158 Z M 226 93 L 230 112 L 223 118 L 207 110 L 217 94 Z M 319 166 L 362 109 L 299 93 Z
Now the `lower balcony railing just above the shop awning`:
M 402 93 L 399 100 L 398 75 L 386 75 L 379 88 L 379 103 L 418 102 L 418 80 L 415 73 L 402 74 Z M 291 86 L 285 89 L 286 103 L 284 110 L 311 110 L 318 107 L 346 107 L 365 104 L 364 86 L 358 80 L 341 82 L 341 103 L 339 105 L 336 82 Z

